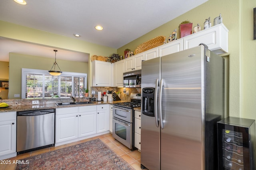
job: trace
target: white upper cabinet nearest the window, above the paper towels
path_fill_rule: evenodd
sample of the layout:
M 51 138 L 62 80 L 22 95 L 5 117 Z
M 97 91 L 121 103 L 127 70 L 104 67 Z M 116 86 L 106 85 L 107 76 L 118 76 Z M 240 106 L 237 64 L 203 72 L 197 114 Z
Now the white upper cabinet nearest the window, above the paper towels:
M 112 86 L 113 66 L 105 61 L 92 61 L 92 86 Z

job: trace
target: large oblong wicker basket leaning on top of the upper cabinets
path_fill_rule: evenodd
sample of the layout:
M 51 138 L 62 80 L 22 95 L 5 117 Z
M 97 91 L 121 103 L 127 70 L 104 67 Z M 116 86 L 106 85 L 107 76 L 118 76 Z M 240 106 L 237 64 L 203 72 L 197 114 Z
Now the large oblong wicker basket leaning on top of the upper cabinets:
M 163 45 L 164 40 L 165 40 L 164 36 L 159 36 L 159 37 L 150 39 L 149 41 L 146 41 L 145 43 L 142 43 L 141 45 L 139 45 L 137 49 L 134 51 L 134 54 L 142 53 L 154 47 Z

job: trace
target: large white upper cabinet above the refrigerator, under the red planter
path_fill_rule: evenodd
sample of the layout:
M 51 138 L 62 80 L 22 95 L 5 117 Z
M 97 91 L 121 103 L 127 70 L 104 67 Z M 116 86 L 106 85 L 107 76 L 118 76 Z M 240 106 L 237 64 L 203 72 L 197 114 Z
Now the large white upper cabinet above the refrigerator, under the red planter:
M 190 49 L 204 43 L 216 54 L 228 53 L 228 29 L 223 23 L 183 38 L 183 49 Z

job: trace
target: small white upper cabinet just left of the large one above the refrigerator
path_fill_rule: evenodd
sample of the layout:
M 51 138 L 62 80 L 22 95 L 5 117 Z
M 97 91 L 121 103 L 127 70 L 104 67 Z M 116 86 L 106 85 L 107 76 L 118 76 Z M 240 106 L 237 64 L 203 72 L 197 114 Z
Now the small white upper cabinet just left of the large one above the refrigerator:
M 176 53 L 183 50 L 183 39 L 177 39 L 166 45 L 161 45 L 158 47 L 159 57 Z

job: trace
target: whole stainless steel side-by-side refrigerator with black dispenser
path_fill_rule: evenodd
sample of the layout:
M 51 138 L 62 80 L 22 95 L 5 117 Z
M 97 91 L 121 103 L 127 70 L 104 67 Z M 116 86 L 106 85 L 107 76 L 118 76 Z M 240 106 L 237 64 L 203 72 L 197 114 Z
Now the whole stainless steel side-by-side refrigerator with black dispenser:
M 218 169 L 224 59 L 199 45 L 142 62 L 141 168 Z

